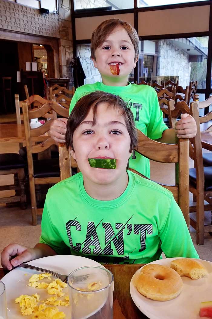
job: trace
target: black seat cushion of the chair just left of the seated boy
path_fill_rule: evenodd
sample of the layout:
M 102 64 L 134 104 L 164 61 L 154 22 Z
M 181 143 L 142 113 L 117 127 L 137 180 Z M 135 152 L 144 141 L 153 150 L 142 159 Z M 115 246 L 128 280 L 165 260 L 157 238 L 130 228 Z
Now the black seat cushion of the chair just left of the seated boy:
M 34 177 L 59 177 L 59 159 L 44 159 L 33 161 Z

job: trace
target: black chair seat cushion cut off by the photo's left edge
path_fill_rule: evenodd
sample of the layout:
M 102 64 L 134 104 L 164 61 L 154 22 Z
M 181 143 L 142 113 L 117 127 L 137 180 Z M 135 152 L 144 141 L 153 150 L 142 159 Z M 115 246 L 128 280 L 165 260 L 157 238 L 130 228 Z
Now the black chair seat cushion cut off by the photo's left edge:
M 17 153 L 0 154 L 1 170 L 24 168 L 25 165 L 23 158 Z

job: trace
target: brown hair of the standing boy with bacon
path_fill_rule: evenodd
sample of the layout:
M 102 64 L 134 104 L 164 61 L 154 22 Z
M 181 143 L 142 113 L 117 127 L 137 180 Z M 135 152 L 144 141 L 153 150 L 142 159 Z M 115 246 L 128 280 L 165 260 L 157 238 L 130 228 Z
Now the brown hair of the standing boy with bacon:
M 117 27 L 122 26 L 128 33 L 130 40 L 133 43 L 135 49 L 135 58 L 139 55 L 139 37 L 136 30 L 125 21 L 120 19 L 109 19 L 101 22 L 99 26 L 93 31 L 91 37 L 91 59 L 96 60 L 95 52 L 102 43 L 105 41 L 106 37 Z

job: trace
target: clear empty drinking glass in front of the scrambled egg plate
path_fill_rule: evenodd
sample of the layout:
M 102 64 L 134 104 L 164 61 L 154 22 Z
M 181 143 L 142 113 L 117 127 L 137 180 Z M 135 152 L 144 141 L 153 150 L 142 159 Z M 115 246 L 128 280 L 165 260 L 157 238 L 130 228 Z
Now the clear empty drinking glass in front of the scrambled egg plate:
M 113 274 L 106 268 L 87 266 L 67 279 L 72 319 L 113 319 Z

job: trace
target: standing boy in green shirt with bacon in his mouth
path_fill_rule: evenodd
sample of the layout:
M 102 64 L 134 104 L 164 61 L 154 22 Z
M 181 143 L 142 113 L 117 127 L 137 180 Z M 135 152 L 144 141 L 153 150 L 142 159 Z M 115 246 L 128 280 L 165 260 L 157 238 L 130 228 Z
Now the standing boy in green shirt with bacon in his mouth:
M 70 113 L 84 95 L 103 91 L 119 95 L 130 107 L 135 126 L 149 138 L 162 143 L 175 143 L 175 134 L 181 138 L 196 135 L 196 122 L 189 114 L 182 114 L 175 130 L 163 122 L 155 90 L 149 85 L 136 85 L 128 81 L 129 74 L 138 61 L 139 37 L 136 30 L 119 19 L 105 20 L 93 31 L 91 59 L 102 77 L 102 82 L 78 87 L 72 98 Z M 50 135 L 57 142 L 65 142 L 67 119 L 53 121 Z M 129 167 L 150 178 L 149 160 L 133 151 Z

